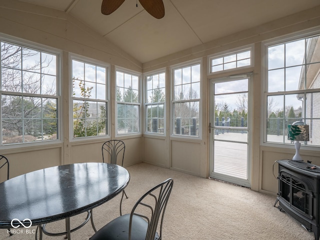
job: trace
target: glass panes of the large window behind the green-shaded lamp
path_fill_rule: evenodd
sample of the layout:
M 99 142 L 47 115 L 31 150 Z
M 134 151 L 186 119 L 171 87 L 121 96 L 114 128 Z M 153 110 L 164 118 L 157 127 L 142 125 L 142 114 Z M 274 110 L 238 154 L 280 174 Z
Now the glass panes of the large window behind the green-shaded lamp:
M 266 142 L 287 140 L 287 125 L 309 125 L 307 145 L 320 145 L 320 37 L 267 44 Z

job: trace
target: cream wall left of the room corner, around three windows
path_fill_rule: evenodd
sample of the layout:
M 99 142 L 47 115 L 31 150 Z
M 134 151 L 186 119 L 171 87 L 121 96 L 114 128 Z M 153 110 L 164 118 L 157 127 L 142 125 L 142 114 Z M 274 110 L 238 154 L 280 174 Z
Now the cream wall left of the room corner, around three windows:
M 111 89 L 115 89 L 115 65 L 142 72 L 142 64 L 67 13 L 15 0 L 0 2 L 0 34 L 62 50 L 62 142 L 0 149 L 0 154 L 6 155 L 10 161 L 10 177 L 53 165 L 102 161 L 101 146 L 107 138 L 85 141 L 69 139 L 68 54 L 71 52 L 111 64 Z M 113 97 L 114 92 L 111 92 L 111 99 Z M 112 100 L 110 108 L 110 114 L 114 116 L 115 103 Z M 113 118 L 111 117 L 112 139 L 115 138 Z M 118 139 L 126 144 L 124 165 L 141 162 L 141 134 Z

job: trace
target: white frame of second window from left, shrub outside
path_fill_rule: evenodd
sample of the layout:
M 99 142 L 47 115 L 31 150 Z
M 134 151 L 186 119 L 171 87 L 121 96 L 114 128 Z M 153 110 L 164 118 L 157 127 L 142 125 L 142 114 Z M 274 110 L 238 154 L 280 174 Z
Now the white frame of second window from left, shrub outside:
M 85 57 L 82 55 L 69 53 L 69 139 L 70 141 L 87 141 L 88 139 L 101 139 L 101 138 L 108 138 L 110 137 L 110 64 L 105 63 L 103 61 L 99 61 L 96 59 L 92 59 L 89 57 Z M 72 86 L 72 60 L 80 61 L 83 63 L 92 64 L 95 66 L 100 66 L 105 68 L 105 99 L 98 99 L 98 98 L 82 98 L 82 99 L 89 99 L 92 101 L 101 101 L 105 102 L 106 104 L 106 134 L 103 135 L 95 135 L 95 136 L 81 136 L 81 137 L 74 137 L 73 135 L 73 100 L 80 100 L 80 97 L 73 97 L 73 86 Z

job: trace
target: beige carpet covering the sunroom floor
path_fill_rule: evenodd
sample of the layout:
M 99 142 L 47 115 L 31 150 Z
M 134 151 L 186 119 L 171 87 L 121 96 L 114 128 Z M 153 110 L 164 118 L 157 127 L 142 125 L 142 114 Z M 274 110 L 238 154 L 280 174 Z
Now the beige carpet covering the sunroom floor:
M 128 199 L 123 201 L 124 213 L 148 189 L 168 177 L 174 179 L 172 193 L 166 208 L 162 240 L 195 239 L 314 239 L 292 217 L 273 207 L 274 196 L 254 192 L 248 188 L 196 177 L 166 168 L 139 163 L 127 167 L 130 182 L 125 188 Z M 94 209 L 97 228 L 119 215 L 120 195 Z M 71 218 L 71 224 L 83 220 L 85 214 Z M 49 223 L 48 229 L 60 229 L 64 221 Z M 21 228 L 22 229 L 22 228 Z M 0 229 L 0 239 L 34 239 L 29 234 L 8 236 Z M 88 239 L 93 230 L 90 222 L 71 233 L 72 240 Z M 43 239 L 63 239 L 63 236 L 44 236 Z

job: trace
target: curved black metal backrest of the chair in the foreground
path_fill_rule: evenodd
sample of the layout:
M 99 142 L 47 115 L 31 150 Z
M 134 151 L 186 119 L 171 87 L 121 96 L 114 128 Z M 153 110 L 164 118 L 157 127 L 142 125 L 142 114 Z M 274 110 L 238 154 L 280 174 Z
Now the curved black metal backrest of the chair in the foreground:
M 160 220 L 160 231 L 159 237 L 157 239 L 161 239 L 164 211 L 171 193 L 172 186 L 173 179 L 168 178 L 160 184 L 154 186 L 146 193 L 144 193 L 140 197 L 140 199 L 134 204 L 130 213 L 129 239 L 131 237 L 131 225 L 133 215 L 143 217 L 148 223 L 145 240 L 154 239 Z

